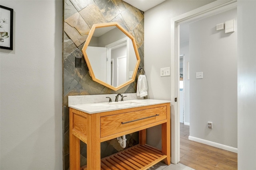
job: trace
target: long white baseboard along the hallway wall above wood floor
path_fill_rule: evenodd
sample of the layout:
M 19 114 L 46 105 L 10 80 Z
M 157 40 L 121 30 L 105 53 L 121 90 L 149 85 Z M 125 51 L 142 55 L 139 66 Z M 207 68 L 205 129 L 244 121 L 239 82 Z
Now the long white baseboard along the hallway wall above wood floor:
M 215 142 L 212 142 L 212 141 L 206 141 L 204 139 L 200 139 L 200 138 L 192 137 L 192 136 L 188 136 L 188 139 L 191 140 L 191 141 L 196 141 L 196 142 L 199 142 L 199 143 L 210 145 L 212 147 L 216 147 L 216 148 L 220 148 L 220 149 L 228 150 L 230 152 L 237 153 L 237 148 L 229 147 L 227 145 L 222 145 L 220 143 L 215 143 Z

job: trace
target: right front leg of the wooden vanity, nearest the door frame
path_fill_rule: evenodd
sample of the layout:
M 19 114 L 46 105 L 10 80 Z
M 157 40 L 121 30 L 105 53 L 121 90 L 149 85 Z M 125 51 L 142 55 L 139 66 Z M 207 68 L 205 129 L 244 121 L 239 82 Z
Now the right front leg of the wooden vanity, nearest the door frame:
M 170 120 L 170 107 L 167 107 L 167 120 Z M 162 153 L 167 155 L 165 164 L 171 164 L 171 123 L 167 121 L 162 124 Z

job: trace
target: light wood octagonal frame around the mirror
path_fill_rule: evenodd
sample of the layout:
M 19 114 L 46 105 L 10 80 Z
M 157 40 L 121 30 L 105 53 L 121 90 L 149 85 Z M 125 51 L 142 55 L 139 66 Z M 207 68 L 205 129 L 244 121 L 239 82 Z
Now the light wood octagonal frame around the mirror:
M 89 57 L 86 53 L 86 49 L 87 47 L 89 46 L 89 43 L 93 37 L 93 34 L 94 34 L 94 31 L 97 29 L 97 28 L 102 28 L 102 27 L 111 27 L 111 26 L 116 26 L 118 29 L 120 29 L 127 37 L 129 37 L 131 40 L 132 40 L 132 44 L 133 44 L 133 47 L 134 47 L 134 51 L 135 51 L 135 55 L 136 55 L 136 64 L 135 64 L 135 67 L 134 67 L 134 70 L 133 70 L 133 74 L 132 74 L 132 78 L 128 81 L 126 81 L 124 84 L 121 84 L 119 86 L 112 86 L 111 84 L 108 84 L 98 78 L 96 78 L 95 74 L 94 74 L 94 71 L 92 69 L 92 65 L 90 63 L 90 60 L 89 60 Z M 92 29 L 90 30 L 89 34 L 88 34 L 88 37 L 86 39 L 86 42 L 82 48 L 82 53 L 84 55 L 84 59 L 86 61 L 86 64 L 88 66 L 88 69 L 89 69 L 89 74 L 90 76 L 92 77 L 92 80 L 94 80 L 95 82 L 98 82 L 99 84 L 102 84 L 103 86 L 106 86 L 112 90 L 119 90 L 121 88 L 123 88 L 124 86 L 127 86 L 128 84 L 134 82 L 135 78 L 136 78 L 136 74 L 137 74 L 137 70 L 138 70 L 138 67 L 139 67 L 139 64 L 140 64 L 140 56 L 139 56 L 139 52 L 138 52 L 138 48 L 137 48 L 137 45 L 136 45 L 136 41 L 134 39 L 134 37 L 128 32 L 126 31 L 121 25 L 119 25 L 117 22 L 110 22 L 110 23 L 98 23 L 98 24 L 94 24 L 92 26 Z

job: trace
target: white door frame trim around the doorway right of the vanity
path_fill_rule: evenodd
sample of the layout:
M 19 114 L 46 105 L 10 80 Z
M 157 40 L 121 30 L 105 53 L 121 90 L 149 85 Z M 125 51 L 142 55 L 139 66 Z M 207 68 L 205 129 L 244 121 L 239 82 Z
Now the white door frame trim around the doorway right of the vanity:
M 237 0 L 228 2 L 216 0 L 210 4 L 182 14 L 171 19 L 171 155 L 172 163 L 177 164 L 180 161 L 180 23 L 195 20 L 197 18 L 206 18 L 237 7 Z

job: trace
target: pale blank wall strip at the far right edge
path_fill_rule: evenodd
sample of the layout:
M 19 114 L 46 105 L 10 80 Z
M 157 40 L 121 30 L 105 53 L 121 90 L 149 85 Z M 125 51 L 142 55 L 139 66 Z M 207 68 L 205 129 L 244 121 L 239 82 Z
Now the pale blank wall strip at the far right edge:
M 238 0 L 238 170 L 256 169 L 256 1 Z

